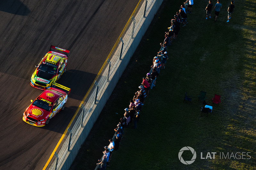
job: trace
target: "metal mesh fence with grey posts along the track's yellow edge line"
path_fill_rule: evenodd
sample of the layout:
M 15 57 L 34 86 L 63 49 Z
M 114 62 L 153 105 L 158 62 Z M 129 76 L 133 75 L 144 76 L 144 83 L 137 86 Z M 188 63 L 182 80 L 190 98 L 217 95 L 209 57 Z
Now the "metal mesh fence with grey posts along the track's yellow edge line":
M 75 144 L 75 141 L 78 138 L 79 130 L 81 129 L 81 127 L 83 127 L 83 124 L 89 113 L 92 111 L 94 104 L 97 104 L 98 102 L 97 96 L 100 96 L 104 92 L 103 87 L 109 81 L 109 76 L 115 73 L 115 69 L 120 60 L 122 59 L 122 53 L 129 48 L 128 44 L 133 38 L 134 32 L 139 29 L 139 23 L 142 21 L 142 18 L 145 17 L 145 14 L 150 6 L 153 5 L 153 1 L 154 0 L 140 0 L 139 4 L 136 6 L 132 17 L 128 20 L 123 32 L 120 34 L 120 41 L 117 41 L 113 49 L 111 50 L 108 59 L 103 64 L 100 73 L 97 75 L 94 83 L 87 92 L 84 101 L 81 103 L 81 107 L 79 107 L 74 120 L 68 127 L 67 132 L 61 140 L 59 147 L 54 152 L 54 156 L 51 158 L 46 169 L 59 169 L 60 165 L 63 163 L 63 161 L 65 161 L 65 156 L 69 152 L 70 148 L 72 148 L 72 146 Z M 144 3 L 147 3 L 148 5 L 145 5 L 145 7 L 142 6 Z M 140 13 L 142 13 L 142 15 L 141 17 L 138 17 L 138 14 Z M 131 33 L 131 36 L 127 36 L 127 34 L 126 36 L 124 36 L 125 33 Z M 119 45 L 120 43 L 122 44 Z M 86 125 L 84 127 L 86 127 Z M 113 137 L 113 141 L 114 140 L 115 135 Z

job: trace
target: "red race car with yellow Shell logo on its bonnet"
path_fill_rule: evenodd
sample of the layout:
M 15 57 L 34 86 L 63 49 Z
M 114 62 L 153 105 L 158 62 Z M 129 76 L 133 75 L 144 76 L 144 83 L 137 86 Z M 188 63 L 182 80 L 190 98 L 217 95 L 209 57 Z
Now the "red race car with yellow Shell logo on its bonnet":
M 54 82 L 52 84 L 67 90 L 69 94 L 69 88 Z M 23 121 L 38 127 L 48 124 L 53 116 L 64 109 L 68 94 L 60 89 L 50 87 L 42 92 L 36 100 L 31 100 L 32 104 L 23 113 Z

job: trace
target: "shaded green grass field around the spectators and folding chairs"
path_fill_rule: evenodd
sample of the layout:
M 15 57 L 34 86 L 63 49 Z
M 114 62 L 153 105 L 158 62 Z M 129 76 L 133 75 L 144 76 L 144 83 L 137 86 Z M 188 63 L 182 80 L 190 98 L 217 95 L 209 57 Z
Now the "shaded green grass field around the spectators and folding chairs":
M 164 0 L 70 169 L 95 168 L 182 2 Z M 229 23 L 229 0 L 221 0 L 217 22 L 205 20 L 207 3 L 194 2 L 188 25 L 167 48 L 169 60 L 149 92 L 138 128 L 124 129 L 107 169 L 256 169 L 256 2 L 235 1 Z M 209 105 L 215 93 L 221 95 L 208 116 L 200 116 L 200 91 L 207 92 Z M 185 92 L 193 96 L 191 104 L 183 103 Z M 178 158 L 185 146 L 197 154 L 190 165 Z M 215 159 L 201 159 L 201 152 L 203 158 L 216 152 Z M 182 158 L 191 160 L 191 152 Z

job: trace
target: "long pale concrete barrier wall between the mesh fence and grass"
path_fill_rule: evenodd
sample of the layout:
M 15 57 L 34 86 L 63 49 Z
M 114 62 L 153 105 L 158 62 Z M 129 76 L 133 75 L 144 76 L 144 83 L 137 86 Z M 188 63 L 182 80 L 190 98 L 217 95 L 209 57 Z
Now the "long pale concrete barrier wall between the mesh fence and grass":
M 148 0 L 148 2 L 150 2 Z M 79 152 L 79 149 L 81 145 L 84 143 L 85 139 L 87 138 L 88 134 L 90 133 L 90 130 L 92 129 L 93 124 L 96 122 L 98 116 L 100 115 L 100 112 L 102 111 L 103 107 L 105 106 L 109 96 L 113 92 L 119 78 L 123 74 L 127 64 L 130 61 L 130 58 L 132 57 L 133 53 L 135 52 L 136 48 L 138 47 L 142 36 L 145 34 L 145 32 L 148 29 L 148 26 L 150 25 L 152 19 L 154 18 L 154 15 L 156 14 L 157 10 L 159 9 L 160 5 L 162 4 L 163 0 L 154 0 L 151 1 L 150 4 L 148 3 L 148 8 L 146 12 L 145 18 L 143 17 L 144 12 L 144 4 L 141 6 L 142 12 L 138 12 L 136 14 L 135 18 L 135 25 L 139 24 L 139 27 L 135 30 L 133 38 L 129 40 L 129 43 L 127 47 L 122 54 L 122 60 L 119 60 L 115 73 L 111 74 L 109 77 L 110 82 L 107 82 L 107 84 L 104 87 L 103 92 L 98 96 L 97 104 L 93 106 L 92 111 L 88 115 L 85 126 L 80 129 L 78 136 L 76 136 L 77 141 L 75 144 L 72 144 L 70 146 L 70 151 L 67 152 L 65 155 L 64 161 L 61 162 L 61 165 L 58 166 L 58 169 L 69 169 L 72 162 L 76 158 L 77 153 Z M 141 11 L 141 10 L 140 10 Z M 142 19 L 141 19 L 142 18 Z M 138 22 L 140 21 L 140 22 Z M 131 37 L 131 34 L 126 33 L 124 35 Z M 124 42 L 126 43 L 126 42 Z M 119 55 L 119 54 L 116 54 Z

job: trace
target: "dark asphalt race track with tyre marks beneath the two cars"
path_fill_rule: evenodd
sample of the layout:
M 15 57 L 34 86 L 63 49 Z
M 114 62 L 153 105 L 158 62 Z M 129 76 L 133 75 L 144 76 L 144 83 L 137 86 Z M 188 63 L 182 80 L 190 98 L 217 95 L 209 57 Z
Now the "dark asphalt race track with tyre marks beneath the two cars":
M 139 0 L 0 1 L 0 169 L 43 169 Z M 41 92 L 30 78 L 50 45 L 70 50 L 65 109 L 38 128 L 22 120 Z

